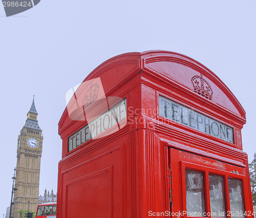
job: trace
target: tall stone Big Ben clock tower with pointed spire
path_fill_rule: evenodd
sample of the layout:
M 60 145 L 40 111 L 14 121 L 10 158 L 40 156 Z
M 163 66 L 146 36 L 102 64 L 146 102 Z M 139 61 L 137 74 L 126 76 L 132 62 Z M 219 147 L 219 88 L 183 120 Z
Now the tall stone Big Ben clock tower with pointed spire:
M 11 215 L 20 217 L 20 210 L 35 211 L 39 196 L 39 175 L 42 155 L 42 130 L 37 121 L 37 111 L 33 102 L 27 120 L 18 135 L 17 166 L 13 209 Z

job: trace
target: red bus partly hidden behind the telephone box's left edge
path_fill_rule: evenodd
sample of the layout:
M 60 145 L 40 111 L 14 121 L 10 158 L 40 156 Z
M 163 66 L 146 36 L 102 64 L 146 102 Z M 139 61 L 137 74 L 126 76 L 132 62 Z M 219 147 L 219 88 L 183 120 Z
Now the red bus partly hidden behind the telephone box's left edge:
M 48 202 L 45 204 L 38 204 L 36 208 L 36 217 L 40 218 L 47 218 L 47 217 L 56 217 L 56 209 L 57 203 L 56 202 Z

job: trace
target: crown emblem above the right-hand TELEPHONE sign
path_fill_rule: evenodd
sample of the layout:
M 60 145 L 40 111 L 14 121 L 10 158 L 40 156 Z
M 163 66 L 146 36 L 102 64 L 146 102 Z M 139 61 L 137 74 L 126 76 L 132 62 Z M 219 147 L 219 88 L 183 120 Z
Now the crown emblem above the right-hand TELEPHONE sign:
M 191 79 L 194 91 L 204 98 L 211 100 L 212 94 L 214 93 L 209 85 L 209 83 L 203 79 L 203 75 L 194 76 Z

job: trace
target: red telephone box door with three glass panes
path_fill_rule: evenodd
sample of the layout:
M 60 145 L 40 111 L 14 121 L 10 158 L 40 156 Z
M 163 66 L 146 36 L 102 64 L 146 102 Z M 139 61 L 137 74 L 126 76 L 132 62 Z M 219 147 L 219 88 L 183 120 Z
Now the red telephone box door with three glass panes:
M 245 166 L 168 149 L 173 217 L 251 216 Z M 177 216 L 178 215 L 178 216 Z

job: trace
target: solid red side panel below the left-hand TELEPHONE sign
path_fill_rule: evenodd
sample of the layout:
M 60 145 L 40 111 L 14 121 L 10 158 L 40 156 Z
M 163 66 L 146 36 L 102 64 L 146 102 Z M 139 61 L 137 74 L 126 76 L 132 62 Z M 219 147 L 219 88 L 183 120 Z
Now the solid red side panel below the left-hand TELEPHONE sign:
M 62 164 L 57 202 L 61 217 L 122 217 L 123 152 L 123 146 L 118 146 L 100 155 L 77 156 L 71 164 Z

